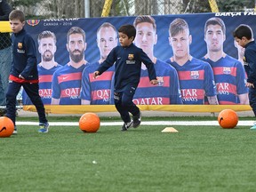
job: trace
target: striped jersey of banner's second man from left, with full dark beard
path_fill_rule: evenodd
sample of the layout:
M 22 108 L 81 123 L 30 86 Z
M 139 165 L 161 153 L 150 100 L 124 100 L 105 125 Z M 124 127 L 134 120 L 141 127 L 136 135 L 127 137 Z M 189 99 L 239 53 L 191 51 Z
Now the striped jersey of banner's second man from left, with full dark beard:
M 74 68 L 67 64 L 55 71 L 52 76 L 52 98 L 60 99 L 60 105 L 81 105 L 81 78 L 87 65 Z

